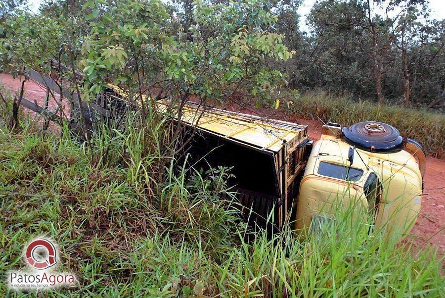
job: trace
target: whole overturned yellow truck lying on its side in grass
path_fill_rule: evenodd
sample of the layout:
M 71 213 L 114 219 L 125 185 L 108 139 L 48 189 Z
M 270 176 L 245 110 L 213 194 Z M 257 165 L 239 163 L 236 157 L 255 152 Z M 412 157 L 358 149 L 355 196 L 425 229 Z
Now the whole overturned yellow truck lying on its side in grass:
M 172 111 L 168 102 L 157 104 Z M 307 125 L 193 102 L 170 115 L 185 124 L 182 156 L 189 164 L 231 168 L 228 183 L 251 225 L 292 223 L 308 233 L 335 221 L 339 208 L 355 206 L 352 212 L 369 212 L 376 228 L 402 239 L 420 211 L 425 151 L 388 124 L 327 123 L 314 141 Z

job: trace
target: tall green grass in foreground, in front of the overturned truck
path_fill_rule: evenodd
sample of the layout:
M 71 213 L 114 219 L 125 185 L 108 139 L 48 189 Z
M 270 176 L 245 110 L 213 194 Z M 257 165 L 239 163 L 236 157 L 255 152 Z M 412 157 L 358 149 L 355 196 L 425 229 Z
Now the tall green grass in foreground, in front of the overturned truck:
M 0 272 L 23 268 L 24 245 L 43 235 L 80 281 L 47 297 L 445 295 L 436 250 L 368 234 L 369 218 L 351 220 L 348 209 L 306 238 L 292 225 L 246 237 L 227 169 L 174 171 L 162 150 L 168 126 L 141 128 L 138 117 L 100 132 L 92 148 L 66 129 L 43 136 L 28 120 L 21 131 L 0 125 Z

